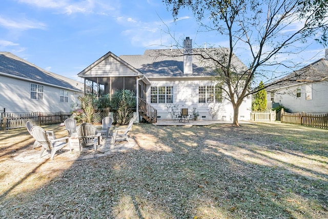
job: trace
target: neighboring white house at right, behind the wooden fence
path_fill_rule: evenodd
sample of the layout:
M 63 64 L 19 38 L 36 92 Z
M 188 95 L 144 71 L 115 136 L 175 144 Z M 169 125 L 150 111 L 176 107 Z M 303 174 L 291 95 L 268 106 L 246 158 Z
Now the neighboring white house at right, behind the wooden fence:
M 285 78 L 293 78 L 267 88 L 268 107 L 282 105 L 290 112 L 328 112 L 328 50 L 326 57 Z M 283 79 L 283 78 L 282 78 Z

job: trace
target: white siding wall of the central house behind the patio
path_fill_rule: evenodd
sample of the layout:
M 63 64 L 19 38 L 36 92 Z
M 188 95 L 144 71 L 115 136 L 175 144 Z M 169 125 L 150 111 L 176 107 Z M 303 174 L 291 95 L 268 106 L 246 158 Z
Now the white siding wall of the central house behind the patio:
M 196 108 L 196 111 L 199 112 L 199 120 L 212 120 L 209 113 L 209 108 L 214 107 L 219 109 L 215 120 L 222 121 L 231 121 L 233 119 L 233 107 L 231 102 L 226 101 L 222 98 L 222 90 L 217 89 L 217 92 L 214 92 L 214 102 L 211 103 L 199 103 L 199 87 L 202 87 L 202 90 L 206 93 L 207 86 L 214 86 L 213 82 L 208 80 L 199 80 L 197 78 L 181 78 L 177 80 L 172 78 L 172 81 L 165 79 L 153 79 L 150 78 L 151 86 L 148 88 L 147 102 L 150 103 L 157 110 L 158 120 L 170 120 L 171 117 L 168 113 L 167 106 L 177 106 L 177 113 L 180 113 L 182 108 L 188 108 L 188 113 L 190 114 L 193 111 L 193 108 Z M 154 87 L 158 86 L 167 86 L 171 85 L 173 87 L 174 94 L 174 103 L 166 104 L 156 104 L 151 103 L 151 90 Z M 215 88 L 216 86 L 214 86 Z M 154 93 L 155 94 L 155 93 Z M 156 94 L 157 95 L 157 94 Z M 204 96 L 204 98 L 206 98 Z M 206 102 L 206 99 L 205 99 Z M 247 98 L 244 103 L 241 104 L 239 108 L 239 117 L 243 120 L 248 120 L 250 117 L 251 109 L 251 98 Z

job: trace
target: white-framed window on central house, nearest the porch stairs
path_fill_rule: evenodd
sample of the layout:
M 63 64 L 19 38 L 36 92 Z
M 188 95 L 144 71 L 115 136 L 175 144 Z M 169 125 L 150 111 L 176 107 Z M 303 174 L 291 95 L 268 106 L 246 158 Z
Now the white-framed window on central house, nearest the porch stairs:
M 172 104 L 173 86 L 151 86 L 150 103 L 152 104 Z

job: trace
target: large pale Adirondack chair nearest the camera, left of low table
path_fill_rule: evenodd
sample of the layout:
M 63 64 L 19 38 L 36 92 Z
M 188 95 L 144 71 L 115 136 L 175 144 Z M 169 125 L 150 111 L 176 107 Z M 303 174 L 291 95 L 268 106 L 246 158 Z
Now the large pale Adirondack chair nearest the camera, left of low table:
M 47 132 L 39 126 L 33 126 L 31 128 L 31 134 L 34 137 L 34 139 L 38 142 L 38 144 L 42 146 L 40 157 L 42 157 L 42 154 L 45 150 L 51 150 L 50 160 L 52 160 L 56 151 L 60 150 L 61 148 L 67 145 L 69 146 L 70 151 L 72 153 L 71 146 L 68 143 L 68 137 L 53 139 L 52 137 L 48 137 Z M 63 142 L 64 140 L 65 142 Z

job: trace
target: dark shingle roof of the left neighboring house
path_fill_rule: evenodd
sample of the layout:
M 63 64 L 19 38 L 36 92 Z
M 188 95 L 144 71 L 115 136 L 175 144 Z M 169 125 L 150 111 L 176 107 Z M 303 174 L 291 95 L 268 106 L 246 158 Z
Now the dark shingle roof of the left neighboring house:
M 67 89 L 83 89 L 82 83 L 39 68 L 10 52 L 0 52 L 0 72 Z

